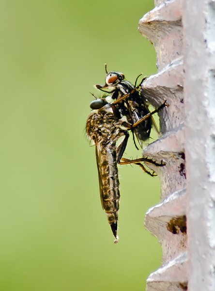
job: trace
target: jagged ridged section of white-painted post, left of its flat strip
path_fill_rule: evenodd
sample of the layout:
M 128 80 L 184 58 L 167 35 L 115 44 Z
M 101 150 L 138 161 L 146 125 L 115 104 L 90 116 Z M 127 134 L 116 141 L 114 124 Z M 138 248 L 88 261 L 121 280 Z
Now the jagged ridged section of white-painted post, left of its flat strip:
M 154 45 L 158 68 L 158 73 L 143 83 L 142 93 L 154 107 L 166 99 L 170 106 L 159 113 L 162 136 L 143 150 L 143 155 L 167 163 L 156 169 L 161 202 L 148 210 L 145 218 L 147 229 L 158 238 L 163 251 L 162 267 L 149 276 L 147 290 L 176 291 L 187 289 L 183 7 L 182 0 L 156 0 L 155 5 L 139 21 L 139 31 Z

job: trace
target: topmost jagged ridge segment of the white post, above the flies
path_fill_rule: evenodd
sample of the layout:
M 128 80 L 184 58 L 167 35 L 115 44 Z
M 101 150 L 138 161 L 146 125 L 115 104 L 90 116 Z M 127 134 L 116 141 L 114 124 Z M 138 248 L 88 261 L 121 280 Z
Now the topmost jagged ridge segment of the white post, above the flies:
M 182 0 L 159 1 L 139 21 L 139 31 L 154 45 L 158 71 L 182 55 Z

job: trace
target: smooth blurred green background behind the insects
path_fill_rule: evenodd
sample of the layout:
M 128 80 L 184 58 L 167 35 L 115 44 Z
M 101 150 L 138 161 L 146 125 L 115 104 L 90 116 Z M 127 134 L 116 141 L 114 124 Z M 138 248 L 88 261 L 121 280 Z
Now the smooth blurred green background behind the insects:
M 144 290 L 159 267 L 144 229 L 159 181 L 121 166 L 118 244 L 100 205 L 89 103 L 105 69 L 156 72 L 138 32 L 152 0 L 0 3 L 0 291 Z M 98 93 L 99 95 L 99 93 Z M 129 155 L 140 156 L 132 142 Z

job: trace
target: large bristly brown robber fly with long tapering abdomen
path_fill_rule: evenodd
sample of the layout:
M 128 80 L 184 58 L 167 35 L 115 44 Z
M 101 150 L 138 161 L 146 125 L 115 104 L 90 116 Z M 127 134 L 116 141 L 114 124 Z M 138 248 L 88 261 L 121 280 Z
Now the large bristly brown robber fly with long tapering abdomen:
M 115 237 L 114 243 L 118 242 L 118 211 L 120 201 L 119 176 L 117 164 L 137 164 L 141 169 L 149 172 L 141 162 L 151 162 L 156 166 L 164 166 L 165 163 L 155 162 L 149 158 L 129 160 L 123 158 L 123 153 L 129 138 L 130 124 L 124 117 L 116 114 L 112 104 L 107 103 L 105 98 L 91 102 L 94 109 L 87 119 L 86 132 L 95 144 L 95 156 L 99 178 L 100 198 L 103 210 L 107 213 L 107 220 Z M 123 141 L 117 145 L 119 139 Z

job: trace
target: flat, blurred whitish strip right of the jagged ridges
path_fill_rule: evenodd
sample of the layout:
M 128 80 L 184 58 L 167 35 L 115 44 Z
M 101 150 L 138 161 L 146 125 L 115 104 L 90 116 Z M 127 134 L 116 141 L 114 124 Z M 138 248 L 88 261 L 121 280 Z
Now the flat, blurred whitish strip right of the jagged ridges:
M 188 290 L 214 291 L 215 1 L 184 1 L 183 26 Z

